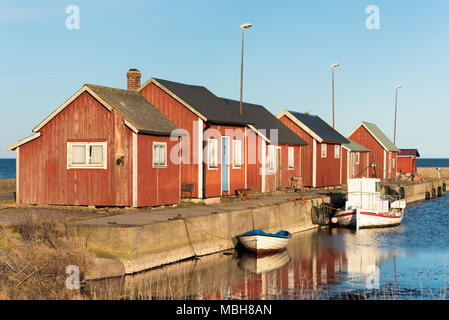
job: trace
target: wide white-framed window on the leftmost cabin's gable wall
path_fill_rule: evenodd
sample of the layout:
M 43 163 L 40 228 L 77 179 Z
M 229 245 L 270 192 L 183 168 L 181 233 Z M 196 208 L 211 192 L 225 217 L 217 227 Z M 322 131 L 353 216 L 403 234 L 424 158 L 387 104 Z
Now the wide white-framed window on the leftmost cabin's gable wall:
M 67 142 L 67 169 L 106 169 L 106 142 Z

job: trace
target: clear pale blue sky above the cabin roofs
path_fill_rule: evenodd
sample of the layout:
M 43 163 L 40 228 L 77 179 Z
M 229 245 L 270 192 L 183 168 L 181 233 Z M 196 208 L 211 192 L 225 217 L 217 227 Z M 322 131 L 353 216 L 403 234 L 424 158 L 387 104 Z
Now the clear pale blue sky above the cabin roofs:
M 80 29 L 66 28 L 68 5 Z M 365 9 L 376 5 L 380 29 Z M 449 1 L 0 1 L 0 158 L 84 83 L 125 88 L 126 72 L 204 85 L 276 114 L 311 110 L 348 135 L 361 121 L 422 157 L 449 157 Z

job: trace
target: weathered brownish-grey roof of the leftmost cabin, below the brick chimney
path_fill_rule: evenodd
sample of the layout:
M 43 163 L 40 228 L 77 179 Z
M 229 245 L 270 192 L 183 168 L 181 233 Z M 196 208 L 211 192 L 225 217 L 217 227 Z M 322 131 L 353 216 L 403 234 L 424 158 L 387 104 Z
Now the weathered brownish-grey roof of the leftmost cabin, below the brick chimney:
M 93 84 L 86 86 L 119 111 L 139 132 L 170 135 L 178 128 L 138 92 Z

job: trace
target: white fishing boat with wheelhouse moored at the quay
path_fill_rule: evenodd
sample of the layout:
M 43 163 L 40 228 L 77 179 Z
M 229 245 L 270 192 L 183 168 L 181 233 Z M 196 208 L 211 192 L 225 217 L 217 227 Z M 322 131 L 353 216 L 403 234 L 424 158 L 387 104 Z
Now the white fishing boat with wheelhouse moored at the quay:
M 337 211 L 332 220 L 339 226 L 356 229 L 399 225 L 406 201 L 397 198 L 382 194 L 380 179 L 348 179 L 345 208 Z

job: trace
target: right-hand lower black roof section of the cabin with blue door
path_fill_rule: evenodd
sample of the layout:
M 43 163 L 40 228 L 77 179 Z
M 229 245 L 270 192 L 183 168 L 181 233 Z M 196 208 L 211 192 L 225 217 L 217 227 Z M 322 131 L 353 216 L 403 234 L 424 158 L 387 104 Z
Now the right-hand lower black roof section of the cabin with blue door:
M 308 144 L 264 106 L 244 102 L 242 103 L 242 115 L 240 115 L 240 101 L 226 98 L 220 99 L 226 103 L 226 110 L 230 114 L 238 114 L 239 117 L 243 118 L 243 121 L 253 124 L 254 127 L 261 131 L 268 139 L 270 139 L 270 141 L 274 142 L 274 140 L 276 140 L 274 134 L 277 132 L 277 142 L 279 143 L 304 146 Z M 277 131 L 270 132 L 270 129 Z

